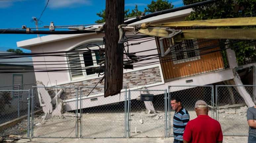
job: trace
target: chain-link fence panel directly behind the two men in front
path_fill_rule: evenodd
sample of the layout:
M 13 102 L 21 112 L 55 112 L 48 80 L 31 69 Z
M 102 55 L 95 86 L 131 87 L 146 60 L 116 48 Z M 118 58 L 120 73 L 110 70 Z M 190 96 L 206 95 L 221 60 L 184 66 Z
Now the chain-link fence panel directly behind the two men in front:
M 194 111 L 194 105 L 197 100 L 205 101 L 209 106 L 208 115 L 212 118 L 216 118 L 216 104 L 214 103 L 214 90 L 213 85 L 205 86 L 169 86 L 168 95 L 168 136 L 173 136 L 173 115 L 174 110 L 170 105 L 170 99 L 173 96 L 178 96 L 181 99 L 182 106 L 189 112 L 190 120 L 196 118 L 196 113 Z

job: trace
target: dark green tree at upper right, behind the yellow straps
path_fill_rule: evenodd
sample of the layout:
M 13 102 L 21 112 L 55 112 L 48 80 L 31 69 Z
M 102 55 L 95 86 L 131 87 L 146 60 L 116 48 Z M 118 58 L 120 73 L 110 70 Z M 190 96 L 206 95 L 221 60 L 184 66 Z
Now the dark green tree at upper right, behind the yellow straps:
M 205 0 L 183 0 L 185 5 L 201 1 Z M 213 4 L 193 8 L 193 12 L 191 12 L 191 14 L 186 17 L 186 20 L 205 20 L 252 16 L 255 15 L 255 11 L 256 0 L 223 0 Z M 231 42 L 232 41 L 234 40 L 231 40 Z M 235 51 L 238 64 L 243 64 L 245 57 L 255 57 L 256 55 L 254 45 L 245 44 L 246 42 L 248 41 L 238 42 L 230 45 L 231 47 L 235 47 L 233 50 Z

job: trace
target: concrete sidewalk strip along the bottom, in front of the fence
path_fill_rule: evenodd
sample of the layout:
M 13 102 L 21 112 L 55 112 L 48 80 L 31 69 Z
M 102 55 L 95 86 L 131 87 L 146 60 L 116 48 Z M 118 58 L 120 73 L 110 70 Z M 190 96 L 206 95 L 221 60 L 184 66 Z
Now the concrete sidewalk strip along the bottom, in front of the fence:
M 247 143 L 247 136 L 224 136 L 223 143 Z M 33 138 L 31 142 L 42 143 L 172 143 L 173 137 L 170 138 Z

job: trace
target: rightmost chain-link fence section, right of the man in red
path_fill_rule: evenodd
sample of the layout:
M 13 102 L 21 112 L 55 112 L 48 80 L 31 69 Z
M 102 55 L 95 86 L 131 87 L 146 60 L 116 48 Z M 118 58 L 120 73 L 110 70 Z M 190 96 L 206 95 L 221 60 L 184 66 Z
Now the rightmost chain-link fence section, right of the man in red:
M 255 89 L 255 85 L 216 85 L 217 119 L 223 135 L 248 135 L 248 107 L 244 98 L 251 98 L 255 102 Z

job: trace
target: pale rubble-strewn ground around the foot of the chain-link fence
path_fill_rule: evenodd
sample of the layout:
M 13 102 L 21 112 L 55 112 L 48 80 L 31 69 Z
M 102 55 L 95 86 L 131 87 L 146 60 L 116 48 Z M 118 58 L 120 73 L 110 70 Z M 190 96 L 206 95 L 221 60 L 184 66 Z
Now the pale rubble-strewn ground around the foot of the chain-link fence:
M 246 121 L 247 107 L 226 108 L 219 110 L 219 122 L 222 126 L 224 135 L 248 135 L 248 124 Z M 164 138 L 165 136 L 165 114 L 163 110 L 157 110 L 156 113 L 149 113 L 145 109 L 132 110 L 130 112 L 130 136 L 127 139 L 124 111 L 115 112 L 84 112 L 81 120 L 78 120 L 77 127 L 76 118 L 74 116 L 53 116 L 42 122 L 43 112 L 34 115 L 33 136 L 35 137 L 59 137 L 58 139 L 40 139 L 33 138 L 32 142 L 56 142 L 61 138 L 65 138 L 61 142 L 172 142 L 173 138 Z M 172 129 L 172 118 L 174 112 L 170 112 L 170 126 Z M 196 118 L 193 110 L 189 110 L 190 120 Z M 169 115 L 169 114 L 168 114 Z M 212 113 L 209 111 L 209 115 Z M 80 128 L 81 123 L 81 128 Z M 167 119 L 169 126 L 169 119 Z M 8 128 L 0 132 L 3 138 L 10 134 L 22 135 L 26 137 L 27 120 L 23 120 L 12 128 Z M 76 139 L 77 133 L 80 139 Z M 172 136 L 172 130 L 168 130 Z M 70 139 L 74 138 L 74 139 Z M 115 139 L 107 139 L 115 137 Z M 151 138 L 153 137 L 153 138 Z M 90 139 L 105 138 L 105 139 Z M 120 139 L 118 139 L 120 138 Z M 228 142 L 247 142 L 246 136 L 225 136 L 224 143 Z

